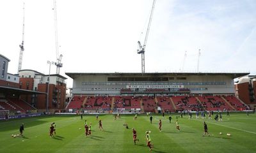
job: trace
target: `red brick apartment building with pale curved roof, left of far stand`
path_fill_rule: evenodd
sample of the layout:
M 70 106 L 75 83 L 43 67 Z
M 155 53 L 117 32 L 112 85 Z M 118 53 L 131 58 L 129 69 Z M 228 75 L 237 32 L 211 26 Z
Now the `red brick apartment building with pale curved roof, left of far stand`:
M 65 108 L 65 80 L 67 78 L 58 74 L 44 75 L 43 73 L 31 69 L 20 70 L 19 76 L 20 89 L 48 93 L 49 87 L 49 110 L 62 110 Z M 47 94 L 24 95 L 21 96 L 21 99 L 26 100 L 28 103 L 38 108 L 38 110 L 45 110 L 47 107 Z

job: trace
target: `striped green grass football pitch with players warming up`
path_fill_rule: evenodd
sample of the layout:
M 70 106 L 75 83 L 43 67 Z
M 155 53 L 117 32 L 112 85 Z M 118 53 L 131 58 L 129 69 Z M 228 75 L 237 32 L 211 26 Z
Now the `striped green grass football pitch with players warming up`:
M 172 123 L 168 115 L 153 115 L 150 124 L 149 116 L 121 115 L 114 120 L 113 115 L 100 115 L 104 131 L 99 131 L 95 115 L 54 115 L 33 117 L 0 122 L 0 152 L 150 152 L 145 140 L 145 131 L 151 131 L 154 144 L 152 152 L 256 152 L 256 115 L 250 113 L 223 114 L 223 122 L 208 119 L 188 119 L 188 115 L 178 119 L 180 131 L 177 131 L 172 114 Z M 84 135 L 84 120 L 92 122 L 92 136 Z M 162 120 L 162 132 L 158 122 Z M 203 120 L 207 123 L 211 136 L 204 133 Z M 49 136 L 49 127 L 56 123 L 56 136 Z M 19 126 L 24 123 L 24 137 L 12 138 L 19 134 Z M 127 123 L 129 129 L 123 124 Z M 79 130 L 81 128 L 81 130 Z M 134 145 L 132 129 L 135 128 L 140 142 Z M 223 133 L 220 135 L 220 133 Z M 227 136 L 230 133 L 231 136 Z

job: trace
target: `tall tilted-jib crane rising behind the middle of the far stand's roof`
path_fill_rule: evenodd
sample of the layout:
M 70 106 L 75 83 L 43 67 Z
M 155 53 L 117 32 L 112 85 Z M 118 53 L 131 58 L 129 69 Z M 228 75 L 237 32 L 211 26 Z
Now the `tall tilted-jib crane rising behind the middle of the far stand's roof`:
M 137 53 L 141 54 L 141 73 L 145 73 L 145 48 L 146 48 L 146 44 L 147 44 L 148 32 L 149 32 L 150 25 L 151 25 L 155 4 L 156 4 L 156 0 L 153 1 L 151 13 L 150 13 L 150 18 L 149 18 L 149 22 L 148 22 L 147 33 L 146 33 L 146 36 L 145 36 L 143 46 L 141 45 L 140 41 L 138 41 L 139 49 L 137 50 Z

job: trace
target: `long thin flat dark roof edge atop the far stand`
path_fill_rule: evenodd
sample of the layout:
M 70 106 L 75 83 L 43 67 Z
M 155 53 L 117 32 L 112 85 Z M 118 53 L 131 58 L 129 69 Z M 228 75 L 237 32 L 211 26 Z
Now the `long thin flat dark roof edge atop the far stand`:
M 162 76 L 162 75 L 178 75 L 178 76 L 188 76 L 188 75 L 226 75 L 226 76 L 230 76 L 232 78 L 238 78 L 238 77 L 243 77 L 244 75 L 249 75 L 250 73 L 245 72 L 245 73 L 182 73 L 182 72 L 175 72 L 175 73 L 119 73 L 119 72 L 115 72 L 115 73 L 65 73 L 68 77 L 70 78 L 77 78 L 79 76 L 83 76 L 83 75 L 108 75 L 108 76 L 118 76 L 118 77 L 122 77 L 122 76 L 143 76 L 143 77 L 158 77 L 158 76 Z

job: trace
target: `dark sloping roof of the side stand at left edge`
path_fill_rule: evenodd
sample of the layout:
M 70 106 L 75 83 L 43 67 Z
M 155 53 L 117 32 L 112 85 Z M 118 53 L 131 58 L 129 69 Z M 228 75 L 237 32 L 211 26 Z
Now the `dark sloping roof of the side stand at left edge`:
M 12 93 L 12 94 L 47 94 L 46 92 L 38 92 L 38 91 L 29 91 L 25 89 L 13 88 L 13 87 L 4 87 L 0 86 L 1 93 Z

